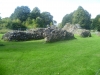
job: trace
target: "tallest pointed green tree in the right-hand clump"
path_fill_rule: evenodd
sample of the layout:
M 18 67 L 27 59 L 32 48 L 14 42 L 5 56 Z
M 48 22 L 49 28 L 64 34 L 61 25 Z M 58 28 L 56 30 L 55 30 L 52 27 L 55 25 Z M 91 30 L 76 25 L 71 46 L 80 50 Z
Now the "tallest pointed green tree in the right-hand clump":
M 80 24 L 82 28 L 90 29 L 91 15 L 81 6 L 73 14 L 73 24 Z

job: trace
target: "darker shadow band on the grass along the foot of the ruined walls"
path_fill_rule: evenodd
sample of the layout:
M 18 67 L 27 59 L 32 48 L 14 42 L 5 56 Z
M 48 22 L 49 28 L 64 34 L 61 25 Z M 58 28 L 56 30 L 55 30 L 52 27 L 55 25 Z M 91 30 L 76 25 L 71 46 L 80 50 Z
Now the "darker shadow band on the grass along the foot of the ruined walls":
M 7 51 L 7 52 L 12 52 L 12 51 L 19 51 L 19 52 L 24 52 L 24 51 L 36 51 L 36 50 L 43 50 L 44 49 L 49 49 L 52 46 L 59 45 L 61 43 L 68 43 L 70 41 L 73 41 L 75 39 L 70 39 L 70 40 L 61 40 L 61 41 L 56 41 L 52 43 L 46 43 L 44 40 L 32 40 L 32 41 L 22 41 L 22 42 L 1 42 L 5 46 L 0 46 L 0 51 Z

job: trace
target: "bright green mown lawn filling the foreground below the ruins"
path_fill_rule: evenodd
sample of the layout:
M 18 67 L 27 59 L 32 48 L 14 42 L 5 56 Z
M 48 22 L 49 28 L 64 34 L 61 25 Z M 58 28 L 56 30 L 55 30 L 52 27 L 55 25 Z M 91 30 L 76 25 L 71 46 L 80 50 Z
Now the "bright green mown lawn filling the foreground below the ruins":
M 100 37 L 0 43 L 0 75 L 100 75 Z

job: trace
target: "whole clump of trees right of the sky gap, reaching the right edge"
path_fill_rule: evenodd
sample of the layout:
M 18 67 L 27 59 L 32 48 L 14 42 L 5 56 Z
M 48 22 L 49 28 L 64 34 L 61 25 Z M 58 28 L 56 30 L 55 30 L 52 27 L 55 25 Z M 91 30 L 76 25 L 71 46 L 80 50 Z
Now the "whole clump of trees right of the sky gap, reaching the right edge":
M 81 6 L 72 13 L 66 14 L 58 26 L 63 27 L 66 23 L 79 24 L 82 28 L 100 31 L 100 15 L 91 19 L 91 14 Z

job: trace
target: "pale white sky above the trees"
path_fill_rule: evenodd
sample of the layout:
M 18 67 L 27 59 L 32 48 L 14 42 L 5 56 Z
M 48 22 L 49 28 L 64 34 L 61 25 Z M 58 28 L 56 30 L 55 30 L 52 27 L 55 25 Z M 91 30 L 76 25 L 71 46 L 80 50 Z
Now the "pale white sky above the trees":
M 64 15 L 82 6 L 92 18 L 100 14 L 100 0 L 0 0 L 0 16 L 9 17 L 17 6 L 28 6 L 31 10 L 38 7 L 41 12 L 48 11 L 58 23 Z

